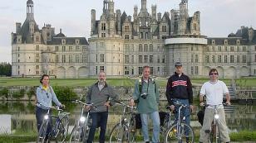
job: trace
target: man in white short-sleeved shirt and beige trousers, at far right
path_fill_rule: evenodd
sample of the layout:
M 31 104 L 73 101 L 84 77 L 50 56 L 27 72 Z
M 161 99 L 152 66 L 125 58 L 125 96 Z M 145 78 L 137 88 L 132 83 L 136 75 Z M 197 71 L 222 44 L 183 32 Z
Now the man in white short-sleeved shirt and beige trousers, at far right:
M 199 142 L 208 142 L 209 134 L 205 131 L 211 130 L 211 123 L 214 120 L 214 105 L 220 105 L 218 106 L 220 140 L 226 143 L 230 142 L 228 126 L 226 126 L 225 122 L 224 107 L 222 105 L 223 95 L 226 95 L 226 104 L 230 105 L 229 90 L 223 81 L 218 80 L 218 76 L 217 69 L 210 69 L 209 82 L 204 83 L 200 91 L 200 106 L 204 105 L 204 96 L 206 97 L 206 104 L 209 106 L 205 108 L 204 123 L 200 131 Z

